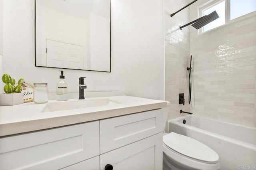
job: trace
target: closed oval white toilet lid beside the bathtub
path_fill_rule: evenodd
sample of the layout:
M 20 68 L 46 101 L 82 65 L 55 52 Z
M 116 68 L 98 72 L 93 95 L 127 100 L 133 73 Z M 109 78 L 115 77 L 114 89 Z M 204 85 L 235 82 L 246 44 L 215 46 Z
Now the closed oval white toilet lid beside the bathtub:
M 209 163 L 219 160 L 219 156 L 214 150 L 188 136 L 171 132 L 163 136 L 163 142 L 172 150 L 196 160 Z

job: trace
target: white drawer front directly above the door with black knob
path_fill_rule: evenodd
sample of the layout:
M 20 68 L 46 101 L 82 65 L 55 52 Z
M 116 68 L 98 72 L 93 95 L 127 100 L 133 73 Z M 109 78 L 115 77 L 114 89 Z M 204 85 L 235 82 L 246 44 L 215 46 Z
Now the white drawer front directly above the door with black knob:
M 100 121 L 100 153 L 136 142 L 163 130 L 163 109 Z

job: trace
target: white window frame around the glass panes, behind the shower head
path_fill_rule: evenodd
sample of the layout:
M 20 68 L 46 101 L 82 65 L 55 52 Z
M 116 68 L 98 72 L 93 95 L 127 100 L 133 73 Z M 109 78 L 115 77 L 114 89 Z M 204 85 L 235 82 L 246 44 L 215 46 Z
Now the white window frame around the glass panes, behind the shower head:
M 234 22 L 237 22 L 239 20 L 244 20 L 246 18 L 249 18 L 251 16 L 255 16 L 256 15 L 256 10 L 253 11 L 253 12 L 250 12 L 248 14 L 244 14 L 240 17 L 237 17 L 237 18 L 234 18 L 233 20 L 230 20 L 230 0 L 210 0 L 200 6 L 198 6 L 198 18 L 202 17 L 202 12 L 204 10 L 207 10 L 209 8 L 211 8 L 212 6 L 215 6 L 216 4 L 219 4 L 220 2 L 223 2 L 225 1 L 225 24 L 221 25 L 221 26 L 218 26 L 218 27 L 215 27 L 215 28 L 212 28 L 206 32 L 209 32 L 209 31 L 212 31 L 212 30 L 215 30 L 216 28 L 220 28 L 220 27 L 223 27 L 223 26 L 226 26 L 228 24 L 231 24 L 231 23 L 234 23 Z M 203 32 L 203 28 L 202 29 L 198 29 L 198 34 L 204 34 L 206 32 Z

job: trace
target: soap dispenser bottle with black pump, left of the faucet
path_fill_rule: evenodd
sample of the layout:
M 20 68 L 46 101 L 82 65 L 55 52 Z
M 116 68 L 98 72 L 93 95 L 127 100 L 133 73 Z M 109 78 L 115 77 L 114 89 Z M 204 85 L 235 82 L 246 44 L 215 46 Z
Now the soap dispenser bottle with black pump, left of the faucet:
M 68 83 L 66 83 L 65 76 L 63 75 L 63 71 L 60 71 L 60 80 L 57 83 L 56 89 L 56 100 L 57 101 L 66 101 L 68 100 Z

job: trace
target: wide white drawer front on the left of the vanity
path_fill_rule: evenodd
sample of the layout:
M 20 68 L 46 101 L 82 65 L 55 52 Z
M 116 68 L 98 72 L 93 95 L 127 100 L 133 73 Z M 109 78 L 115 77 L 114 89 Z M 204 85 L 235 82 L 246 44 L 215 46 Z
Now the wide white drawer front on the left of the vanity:
M 0 138 L 0 169 L 56 170 L 99 155 L 99 121 Z

